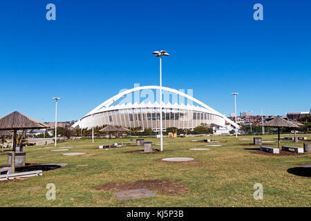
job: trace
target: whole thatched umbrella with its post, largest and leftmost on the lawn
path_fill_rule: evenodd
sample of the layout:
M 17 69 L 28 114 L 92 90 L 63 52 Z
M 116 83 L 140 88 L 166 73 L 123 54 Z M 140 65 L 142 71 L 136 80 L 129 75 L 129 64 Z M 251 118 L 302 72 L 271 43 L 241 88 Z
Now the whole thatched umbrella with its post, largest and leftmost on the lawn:
M 0 118 L 0 131 L 14 131 L 13 132 L 13 144 L 12 144 L 12 173 L 15 173 L 15 150 L 16 150 L 16 137 L 18 130 L 26 129 L 40 129 L 48 128 L 46 124 L 38 122 L 36 119 L 32 119 L 26 115 L 15 111 Z

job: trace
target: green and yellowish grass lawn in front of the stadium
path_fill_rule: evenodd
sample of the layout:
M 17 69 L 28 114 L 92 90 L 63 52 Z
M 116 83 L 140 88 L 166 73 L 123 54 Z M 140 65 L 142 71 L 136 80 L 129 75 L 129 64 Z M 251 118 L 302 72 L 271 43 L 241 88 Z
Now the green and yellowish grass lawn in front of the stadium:
M 276 135 L 261 137 L 275 141 L 265 146 L 277 146 Z M 26 162 L 67 163 L 68 166 L 44 171 L 43 176 L 27 180 L 0 182 L 0 206 L 311 206 L 311 178 L 287 171 L 311 164 L 311 154 L 260 155 L 244 149 L 256 147 L 247 145 L 253 142 L 252 136 L 238 138 L 249 140 L 238 140 L 234 136 L 215 137 L 222 146 L 212 147 L 204 146 L 207 143 L 191 142 L 211 137 L 164 138 L 164 143 L 169 145 L 164 145 L 162 153 L 154 154 L 125 153 L 142 149 L 138 146 L 108 151 L 98 149 L 99 145 L 109 144 L 109 140 L 60 142 L 59 147 L 73 147 L 61 152 L 29 146 L 24 148 Z M 156 144 L 160 139 L 145 138 L 145 141 Z M 129 140 L 123 142 L 129 143 Z M 301 140 L 299 143 L 282 140 L 281 144 L 303 147 Z M 153 145 L 153 148 L 160 146 Z M 210 148 L 210 151 L 189 151 L 189 148 Z M 62 155 L 70 152 L 87 155 Z M 158 161 L 164 157 L 194 157 L 196 161 Z M 7 155 L 0 155 L 0 165 L 6 165 L 6 162 Z M 113 191 L 97 190 L 98 186 L 111 182 L 139 180 L 176 180 L 189 191 L 178 195 L 157 193 L 156 197 L 120 201 Z M 56 200 L 46 200 L 48 183 L 56 186 Z M 253 198 L 256 183 L 263 184 L 263 200 Z

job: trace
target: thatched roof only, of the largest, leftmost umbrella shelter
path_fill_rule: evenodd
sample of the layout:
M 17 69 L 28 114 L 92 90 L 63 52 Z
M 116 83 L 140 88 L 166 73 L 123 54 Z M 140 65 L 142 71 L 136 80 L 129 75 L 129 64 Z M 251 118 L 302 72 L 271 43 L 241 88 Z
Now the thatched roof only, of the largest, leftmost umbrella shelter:
M 18 111 L 0 118 L 0 131 L 40 128 L 48 128 L 48 125 L 38 122 L 37 119 L 32 119 Z

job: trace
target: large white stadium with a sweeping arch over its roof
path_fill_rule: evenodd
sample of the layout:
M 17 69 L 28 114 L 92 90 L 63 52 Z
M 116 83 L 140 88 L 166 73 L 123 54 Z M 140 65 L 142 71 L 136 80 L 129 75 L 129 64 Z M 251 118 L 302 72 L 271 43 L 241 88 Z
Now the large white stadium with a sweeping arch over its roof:
M 160 131 L 159 91 L 160 86 L 139 86 L 124 90 L 87 113 L 73 125 L 73 128 L 77 126 L 92 128 L 110 124 Z M 155 94 L 158 96 L 153 99 Z M 162 96 L 163 130 L 169 127 L 192 130 L 202 123 L 208 126 L 232 124 L 240 128 L 225 115 L 180 90 L 162 87 Z M 142 98 L 144 99 L 141 100 Z

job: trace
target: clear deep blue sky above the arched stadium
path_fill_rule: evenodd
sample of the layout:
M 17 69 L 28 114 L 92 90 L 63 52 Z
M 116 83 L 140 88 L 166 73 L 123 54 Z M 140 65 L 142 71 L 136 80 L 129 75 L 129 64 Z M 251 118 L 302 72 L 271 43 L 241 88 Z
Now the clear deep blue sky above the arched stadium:
M 46 5 L 56 21 L 46 20 Z M 253 6 L 263 4 L 263 21 Z M 79 119 L 122 88 L 192 88 L 220 113 L 311 108 L 311 1 L 1 1 L 0 116 Z

